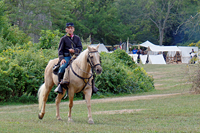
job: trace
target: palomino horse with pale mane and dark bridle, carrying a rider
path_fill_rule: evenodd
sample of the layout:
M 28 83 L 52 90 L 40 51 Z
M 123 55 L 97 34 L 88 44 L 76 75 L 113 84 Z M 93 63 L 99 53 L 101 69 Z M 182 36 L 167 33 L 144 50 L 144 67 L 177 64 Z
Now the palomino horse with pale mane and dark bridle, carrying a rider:
M 94 121 L 92 119 L 91 114 L 91 95 L 92 95 L 92 69 L 96 71 L 97 74 L 102 72 L 102 67 L 100 65 L 100 55 L 98 52 L 99 45 L 96 47 L 90 47 L 83 52 L 72 62 L 69 70 L 70 76 L 70 84 L 68 85 L 68 97 L 69 97 L 69 113 L 68 113 L 68 121 L 72 122 L 71 112 L 73 107 L 73 98 L 74 94 L 80 91 L 83 91 L 85 95 L 85 100 L 88 108 L 88 123 L 93 124 Z M 46 69 L 45 69 L 45 77 L 44 84 L 41 85 L 38 90 L 38 101 L 39 101 L 39 109 L 41 112 L 38 114 L 39 119 L 42 119 L 45 114 L 45 106 L 48 95 L 55 85 L 58 85 L 58 77 L 53 74 L 53 66 L 57 64 L 58 59 L 50 60 Z M 61 120 L 59 113 L 59 104 L 61 99 L 64 97 L 66 90 L 63 89 L 63 94 L 58 94 L 56 97 L 56 118 Z

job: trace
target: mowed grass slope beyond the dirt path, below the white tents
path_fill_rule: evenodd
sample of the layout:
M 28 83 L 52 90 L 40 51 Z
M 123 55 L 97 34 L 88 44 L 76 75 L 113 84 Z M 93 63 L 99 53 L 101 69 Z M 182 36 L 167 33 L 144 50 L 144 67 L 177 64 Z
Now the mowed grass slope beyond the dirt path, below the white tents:
M 154 78 L 156 91 L 153 94 L 185 93 L 190 91 L 194 74 L 193 68 L 197 65 L 166 64 L 166 65 L 141 65 L 150 76 Z M 149 94 L 152 94 L 150 92 Z

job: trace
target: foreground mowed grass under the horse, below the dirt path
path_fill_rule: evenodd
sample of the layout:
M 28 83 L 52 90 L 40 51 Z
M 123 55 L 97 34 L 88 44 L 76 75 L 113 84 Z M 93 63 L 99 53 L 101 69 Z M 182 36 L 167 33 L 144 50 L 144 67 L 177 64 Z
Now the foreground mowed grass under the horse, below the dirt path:
M 86 104 L 75 104 L 73 123 L 67 122 L 68 106 L 61 105 L 62 121 L 56 120 L 55 106 L 47 105 L 43 120 L 36 106 L 0 109 L 1 132 L 200 132 L 199 95 L 183 94 L 136 101 L 92 104 L 95 124 L 87 123 Z M 140 110 L 120 112 L 123 110 Z M 95 113 L 95 112 L 115 112 Z M 118 113 L 117 113 L 118 112 Z

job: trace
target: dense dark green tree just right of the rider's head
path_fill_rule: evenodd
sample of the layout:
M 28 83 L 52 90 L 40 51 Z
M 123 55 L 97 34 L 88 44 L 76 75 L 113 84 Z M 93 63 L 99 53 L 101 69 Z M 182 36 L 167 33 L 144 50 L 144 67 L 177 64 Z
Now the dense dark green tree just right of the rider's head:
M 114 1 L 81 0 L 76 5 L 75 16 L 79 32 L 84 39 L 91 36 L 92 43 L 114 45 L 128 32 L 118 17 Z

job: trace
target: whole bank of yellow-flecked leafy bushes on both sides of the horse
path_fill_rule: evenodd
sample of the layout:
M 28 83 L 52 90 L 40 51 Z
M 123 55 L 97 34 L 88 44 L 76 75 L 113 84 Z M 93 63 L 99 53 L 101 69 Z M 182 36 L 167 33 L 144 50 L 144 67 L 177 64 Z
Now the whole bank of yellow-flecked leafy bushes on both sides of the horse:
M 0 101 L 36 102 L 37 91 L 44 82 L 44 70 L 57 50 L 37 49 L 31 42 L 12 46 L 0 53 Z M 101 53 L 103 72 L 96 77 L 101 95 L 135 93 L 154 88 L 153 79 L 138 67 L 123 50 Z M 82 98 L 82 94 L 76 94 Z M 56 94 L 50 92 L 48 101 Z

